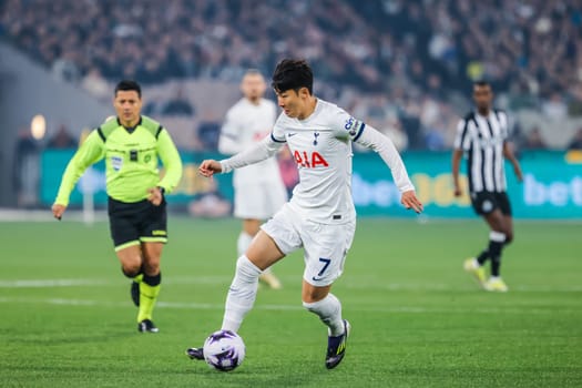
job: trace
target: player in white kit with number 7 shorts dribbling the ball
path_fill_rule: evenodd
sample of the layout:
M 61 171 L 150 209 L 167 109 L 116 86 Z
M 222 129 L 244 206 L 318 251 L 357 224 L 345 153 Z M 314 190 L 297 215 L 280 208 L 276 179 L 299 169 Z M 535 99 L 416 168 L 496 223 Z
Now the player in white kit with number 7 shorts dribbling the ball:
M 273 75 L 273 88 L 284 112 L 270 136 L 227 160 L 207 160 L 200 165 L 204 176 L 228 173 L 274 155 L 287 143 L 299 170 L 299 183 L 292 200 L 261 227 L 236 263 L 222 329 L 238 331 L 255 302 L 261 273 L 303 247 L 303 305 L 328 327 L 325 365 L 331 369 L 344 358 L 350 329 L 341 317 L 339 299 L 329 290 L 341 275 L 356 228 L 351 142 L 380 154 L 390 167 L 405 207 L 420 213 L 422 204 L 392 142 L 337 105 L 313 94 L 313 72 L 307 62 L 289 59 L 279 62 Z M 186 354 L 193 359 L 204 358 L 203 348 L 190 348 Z

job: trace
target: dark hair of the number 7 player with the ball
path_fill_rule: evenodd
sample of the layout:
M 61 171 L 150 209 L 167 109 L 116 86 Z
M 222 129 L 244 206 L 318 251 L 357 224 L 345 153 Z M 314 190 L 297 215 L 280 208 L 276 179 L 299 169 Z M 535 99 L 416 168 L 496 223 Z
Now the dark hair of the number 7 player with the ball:
M 307 88 L 309 94 L 313 94 L 314 73 L 305 60 L 284 59 L 275 68 L 270 85 L 278 93 L 287 90 L 298 92 L 299 89 Z

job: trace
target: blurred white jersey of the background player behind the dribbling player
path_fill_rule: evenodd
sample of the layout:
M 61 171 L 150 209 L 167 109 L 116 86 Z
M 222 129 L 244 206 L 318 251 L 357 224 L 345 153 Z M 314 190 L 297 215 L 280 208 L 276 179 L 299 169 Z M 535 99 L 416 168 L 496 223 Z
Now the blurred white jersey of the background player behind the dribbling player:
M 236 154 L 268 136 L 276 119 L 276 105 L 273 101 L 261 99 L 255 105 L 247 99 L 241 99 L 226 113 L 221 130 L 218 151 L 224 154 Z M 245 183 L 274 182 L 283 184 L 276 159 L 238 169 L 234 172 L 235 187 Z

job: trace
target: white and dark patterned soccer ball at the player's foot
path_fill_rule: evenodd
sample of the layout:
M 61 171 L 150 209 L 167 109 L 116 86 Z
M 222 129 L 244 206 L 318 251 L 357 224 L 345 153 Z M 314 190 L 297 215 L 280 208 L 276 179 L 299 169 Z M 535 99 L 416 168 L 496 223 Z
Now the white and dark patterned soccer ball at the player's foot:
M 243 364 L 245 343 L 231 330 L 214 331 L 204 341 L 204 359 L 211 368 L 231 371 Z

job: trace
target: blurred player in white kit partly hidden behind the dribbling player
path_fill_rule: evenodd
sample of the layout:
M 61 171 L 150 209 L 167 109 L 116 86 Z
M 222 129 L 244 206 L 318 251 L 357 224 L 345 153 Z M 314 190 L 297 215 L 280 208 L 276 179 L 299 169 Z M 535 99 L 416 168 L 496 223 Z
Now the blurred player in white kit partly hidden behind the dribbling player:
M 257 70 L 245 73 L 241 83 L 244 98 L 226 113 L 219 152 L 236 154 L 270 134 L 277 112 L 275 103 L 263 98 L 266 89 L 265 79 Z M 233 175 L 234 216 L 243 219 L 237 241 L 241 257 L 258 233 L 262 219 L 272 217 L 287 202 L 287 191 L 277 160 L 273 157 L 238 169 Z M 261 274 L 259 280 L 274 289 L 282 287 L 270 267 Z

